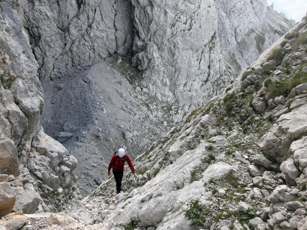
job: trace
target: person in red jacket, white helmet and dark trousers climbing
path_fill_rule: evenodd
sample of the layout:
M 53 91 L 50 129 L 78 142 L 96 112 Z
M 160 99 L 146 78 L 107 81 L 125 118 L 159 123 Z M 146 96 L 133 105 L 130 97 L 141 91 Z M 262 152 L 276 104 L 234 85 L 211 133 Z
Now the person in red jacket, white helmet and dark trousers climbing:
M 127 161 L 131 171 L 133 172 L 133 175 L 135 178 L 138 177 L 138 174 L 136 174 L 133 164 L 130 160 L 130 157 L 128 154 L 125 154 L 125 150 L 123 148 L 120 148 L 118 151 L 115 152 L 113 155 L 109 167 L 108 167 L 108 176 L 111 176 L 111 168 L 113 171 L 113 175 L 116 181 L 116 192 L 119 194 L 122 189 L 122 176 L 124 174 L 124 165 L 125 161 Z

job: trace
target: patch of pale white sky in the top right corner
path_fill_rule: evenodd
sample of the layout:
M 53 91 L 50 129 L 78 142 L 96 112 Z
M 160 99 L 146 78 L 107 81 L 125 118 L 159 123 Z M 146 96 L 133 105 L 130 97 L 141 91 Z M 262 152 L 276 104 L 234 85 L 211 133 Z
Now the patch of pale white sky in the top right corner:
M 274 2 L 274 10 L 283 12 L 289 19 L 301 21 L 306 15 L 307 0 L 268 0 L 270 6 Z

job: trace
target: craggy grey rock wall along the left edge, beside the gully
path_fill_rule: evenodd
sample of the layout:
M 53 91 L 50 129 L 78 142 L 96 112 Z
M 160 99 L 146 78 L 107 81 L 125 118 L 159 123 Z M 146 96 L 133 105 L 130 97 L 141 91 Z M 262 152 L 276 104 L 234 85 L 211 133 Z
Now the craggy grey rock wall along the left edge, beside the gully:
M 5 22 L 0 31 L 0 173 L 7 175 L 16 192 L 14 211 L 33 213 L 37 208 L 48 210 L 38 193 L 46 197 L 58 188 L 72 193 L 76 159 L 41 128 L 45 103 L 40 67 L 22 22 L 21 4 L 2 1 L 0 8 Z M 59 172 L 63 165 L 68 167 L 65 173 Z

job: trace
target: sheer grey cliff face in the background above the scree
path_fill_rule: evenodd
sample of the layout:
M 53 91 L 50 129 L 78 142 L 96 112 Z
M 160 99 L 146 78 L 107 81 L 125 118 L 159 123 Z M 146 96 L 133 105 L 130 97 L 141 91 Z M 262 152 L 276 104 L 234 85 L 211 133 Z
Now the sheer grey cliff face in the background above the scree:
M 265 0 L 21 5 L 44 84 L 109 53 L 133 52 L 143 91 L 175 100 L 184 111 L 221 92 L 292 26 Z

